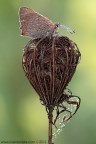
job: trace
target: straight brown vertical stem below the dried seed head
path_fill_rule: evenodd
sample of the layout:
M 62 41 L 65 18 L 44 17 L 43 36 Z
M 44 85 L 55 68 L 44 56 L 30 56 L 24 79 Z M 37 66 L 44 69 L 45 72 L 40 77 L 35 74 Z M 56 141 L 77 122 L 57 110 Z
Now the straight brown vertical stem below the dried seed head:
M 48 119 L 49 119 L 49 131 L 48 131 L 48 144 L 52 144 L 52 119 L 53 119 L 53 108 L 49 108 Z

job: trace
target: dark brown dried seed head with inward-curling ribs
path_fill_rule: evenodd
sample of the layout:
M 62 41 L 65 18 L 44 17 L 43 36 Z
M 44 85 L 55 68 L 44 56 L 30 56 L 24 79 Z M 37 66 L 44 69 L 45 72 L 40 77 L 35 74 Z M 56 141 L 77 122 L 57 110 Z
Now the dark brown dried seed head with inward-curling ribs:
M 23 54 L 23 69 L 45 106 L 58 104 L 80 59 L 77 45 L 64 36 L 30 40 Z

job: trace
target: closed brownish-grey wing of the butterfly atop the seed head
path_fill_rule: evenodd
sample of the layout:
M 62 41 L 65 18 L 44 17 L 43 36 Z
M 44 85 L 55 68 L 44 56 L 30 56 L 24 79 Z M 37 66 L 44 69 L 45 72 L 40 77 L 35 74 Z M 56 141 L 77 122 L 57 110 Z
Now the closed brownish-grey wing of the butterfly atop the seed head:
M 35 39 L 54 32 L 55 24 L 30 8 L 21 7 L 19 17 L 21 35 L 23 36 Z

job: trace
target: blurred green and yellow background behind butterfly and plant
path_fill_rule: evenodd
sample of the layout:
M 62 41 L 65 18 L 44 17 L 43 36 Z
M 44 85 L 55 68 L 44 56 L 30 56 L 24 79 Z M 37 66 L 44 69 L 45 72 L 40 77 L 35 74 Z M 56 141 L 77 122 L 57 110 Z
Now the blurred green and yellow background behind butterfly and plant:
M 46 140 L 45 108 L 22 69 L 24 45 L 18 10 L 33 8 L 53 22 L 76 30 L 60 30 L 78 44 L 82 59 L 68 88 L 81 97 L 77 114 L 55 144 L 96 144 L 96 0 L 0 0 L 0 141 Z

